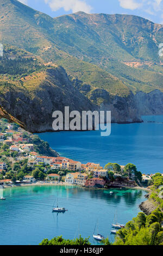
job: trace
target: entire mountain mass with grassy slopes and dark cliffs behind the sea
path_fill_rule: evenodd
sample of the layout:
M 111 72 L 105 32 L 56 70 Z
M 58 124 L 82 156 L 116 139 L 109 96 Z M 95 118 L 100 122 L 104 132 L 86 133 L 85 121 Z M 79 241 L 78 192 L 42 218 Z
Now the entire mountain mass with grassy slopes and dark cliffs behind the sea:
M 16 0 L 1 0 L 0 22 L 0 104 L 26 129 L 52 129 L 52 111 L 66 104 L 111 110 L 112 122 L 162 113 L 162 25 L 83 12 L 53 19 Z

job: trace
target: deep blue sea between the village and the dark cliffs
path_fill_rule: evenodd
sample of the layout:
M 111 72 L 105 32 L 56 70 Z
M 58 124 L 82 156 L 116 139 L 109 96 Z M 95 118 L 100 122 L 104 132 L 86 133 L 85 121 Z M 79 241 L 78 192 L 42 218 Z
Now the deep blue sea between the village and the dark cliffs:
M 100 131 L 42 133 L 61 156 L 82 163 L 133 163 L 143 173 L 163 172 L 163 116 L 143 116 L 144 123 L 111 124 L 111 135 Z M 149 122 L 148 122 L 149 121 Z M 152 121 L 152 122 L 150 122 Z

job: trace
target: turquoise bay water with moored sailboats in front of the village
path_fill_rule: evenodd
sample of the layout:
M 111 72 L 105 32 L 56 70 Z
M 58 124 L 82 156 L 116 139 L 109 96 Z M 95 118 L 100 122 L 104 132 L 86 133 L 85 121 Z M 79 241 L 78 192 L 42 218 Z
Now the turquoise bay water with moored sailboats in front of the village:
M 118 222 L 135 217 L 139 204 L 145 200 L 143 190 L 89 190 L 70 186 L 22 187 L 4 190 L 6 201 L 0 201 L 0 245 L 38 245 L 43 238 L 63 235 L 74 239 L 78 234 L 92 239 L 95 223 L 104 236 L 110 235 L 116 209 Z M 59 193 L 60 206 L 65 213 L 52 213 L 54 199 Z

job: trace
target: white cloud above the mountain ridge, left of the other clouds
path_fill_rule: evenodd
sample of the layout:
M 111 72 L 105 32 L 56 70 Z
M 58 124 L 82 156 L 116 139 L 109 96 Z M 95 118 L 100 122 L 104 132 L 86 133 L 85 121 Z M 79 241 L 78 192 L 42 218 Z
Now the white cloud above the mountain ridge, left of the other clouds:
M 90 13 L 92 10 L 92 7 L 83 0 L 45 0 L 45 3 L 49 5 L 52 11 L 64 8 L 65 11 L 72 10 L 73 13 L 76 13 L 77 11 Z

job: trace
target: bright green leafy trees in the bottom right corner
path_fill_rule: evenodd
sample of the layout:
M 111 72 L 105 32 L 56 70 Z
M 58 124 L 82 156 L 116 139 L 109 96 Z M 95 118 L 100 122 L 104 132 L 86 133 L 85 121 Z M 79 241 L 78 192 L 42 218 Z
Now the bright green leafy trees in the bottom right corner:
M 140 212 L 117 232 L 114 245 L 163 245 L 162 220 L 159 208 L 148 216 Z

